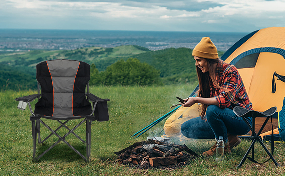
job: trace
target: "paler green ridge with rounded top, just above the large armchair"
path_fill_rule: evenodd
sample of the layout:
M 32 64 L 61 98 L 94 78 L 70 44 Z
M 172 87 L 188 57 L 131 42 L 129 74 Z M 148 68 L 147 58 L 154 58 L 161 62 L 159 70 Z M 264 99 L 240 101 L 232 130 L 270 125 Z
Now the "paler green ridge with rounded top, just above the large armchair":
M 115 48 L 79 48 L 76 50 L 32 50 L 26 53 L 10 53 L 0 54 L 0 63 L 10 66 L 24 66 L 35 68 L 36 64 L 44 60 L 52 59 L 74 59 L 83 62 L 104 63 L 103 65 L 111 65 L 121 58 L 130 57 L 132 55 L 140 54 L 149 51 L 136 45 L 119 46 Z M 105 63 L 105 61 L 107 61 Z M 106 67 L 106 66 L 105 66 Z M 105 70 L 98 67 L 99 71 Z

